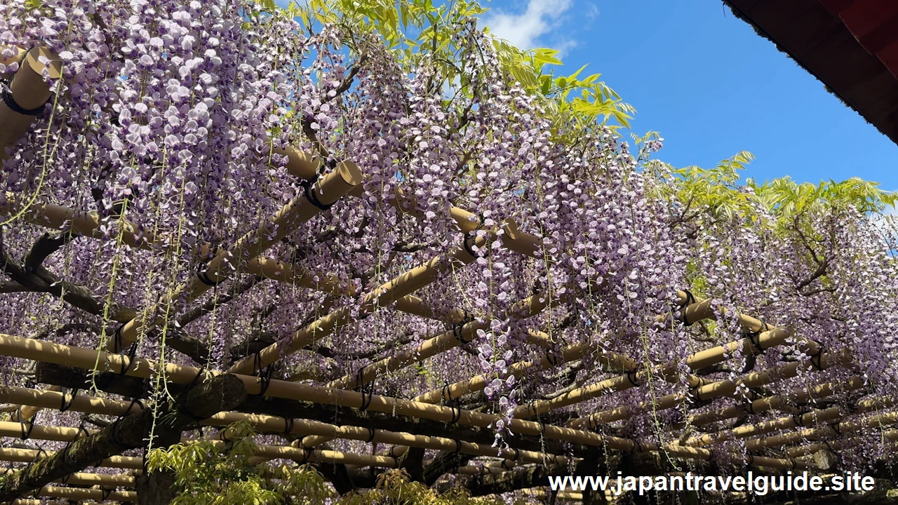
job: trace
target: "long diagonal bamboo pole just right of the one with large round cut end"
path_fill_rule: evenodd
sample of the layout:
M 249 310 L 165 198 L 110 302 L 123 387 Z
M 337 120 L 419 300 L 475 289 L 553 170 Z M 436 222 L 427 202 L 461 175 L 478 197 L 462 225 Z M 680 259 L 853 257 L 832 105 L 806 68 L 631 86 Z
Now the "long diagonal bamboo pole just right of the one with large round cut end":
M 495 238 L 476 236 L 473 243 L 477 247 L 486 247 Z M 467 240 L 467 237 L 465 237 Z M 411 294 L 420 288 L 433 283 L 440 275 L 456 267 L 468 265 L 474 261 L 474 256 L 465 247 L 456 247 L 453 252 L 440 254 L 424 264 L 418 265 L 412 270 L 402 273 L 400 276 L 374 288 L 360 306 L 344 306 L 324 315 L 307 324 L 294 334 L 285 343 L 280 341 L 260 350 L 253 356 L 248 356 L 233 364 L 232 373 L 251 374 L 260 368 L 268 367 L 286 354 L 293 354 L 303 349 L 315 340 L 324 338 L 342 325 L 352 323 L 357 317 L 373 313 L 381 306 L 388 306 L 400 297 Z M 534 304 L 535 305 L 535 304 Z M 357 315 L 353 312 L 356 311 Z

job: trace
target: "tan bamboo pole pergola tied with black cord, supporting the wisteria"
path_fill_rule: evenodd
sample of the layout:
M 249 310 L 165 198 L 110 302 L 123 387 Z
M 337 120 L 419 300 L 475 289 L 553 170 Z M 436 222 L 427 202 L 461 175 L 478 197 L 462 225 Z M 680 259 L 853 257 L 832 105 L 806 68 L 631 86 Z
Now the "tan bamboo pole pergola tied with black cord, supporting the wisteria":
M 47 102 L 49 90 L 40 78 L 39 58 L 56 61 L 48 49 L 21 51 L 16 58 L 25 62 L 15 75 L 10 86 L 12 98 L 21 110 L 40 108 Z M 40 64 L 43 66 L 43 64 Z M 51 66 L 51 77 L 58 77 L 58 66 Z M 30 127 L 33 116 L 23 114 L 0 103 L 0 153 L 4 148 L 14 146 L 19 137 Z M 287 171 L 298 180 L 311 180 L 319 173 L 322 162 L 317 155 L 301 152 L 293 147 L 278 150 L 278 154 L 288 158 Z M 118 374 L 125 377 L 147 379 L 163 373 L 170 385 L 196 388 L 199 383 L 211 388 L 227 386 L 233 392 L 230 403 L 213 403 L 193 406 L 189 417 L 200 419 L 202 425 L 218 427 L 219 439 L 214 443 L 222 445 L 232 434 L 226 429 L 236 421 L 246 421 L 260 433 L 274 434 L 294 439 L 284 445 L 260 445 L 252 463 L 262 464 L 270 459 L 293 460 L 299 463 L 326 463 L 379 468 L 399 468 L 404 465 L 403 456 L 409 447 L 427 449 L 442 454 L 462 454 L 468 463 L 447 468 L 445 473 L 460 475 L 502 474 L 514 472 L 522 466 L 568 466 L 578 465 L 594 454 L 595 448 L 602 448 L 617 454 L 643 454 L 662 452 L 667 456 L 695 461 L 708 461 L 714 450 L 728 440 L 745 439 L 748 456 L 733 453 L 733 458 L 744 465 L 768 469 L 813 468 L 813 454 L 824 447 L 848 447 L 850 439 L 842 439 L 843 434 L 854 433 L 866 428 L 888 427 L 898 422 L 898 412 L 893 398 L 877 398 L 858 403 L 853 412 L 843 412 L 838 407 L 799 411 L 797 415 L 778 416 L 773 413 L 757 423 L 729 430 L 706 430 L 718 421 L 733 419 L 751 413 L 761 416 L 767 412 L 787 410 L 790 405 L 804 403 L 812 399 L 823 399 L 836 394 L 863 391 L 862 377 L 852 377 L 843 382 L 826 382 L 806 390 L 798 391 L 787 398 L 785 395 L 762 396 L 755 394 L 746 399 L 744 388 L 756 389 L 779 380 L 796 377 L 799 373 L 823 371 L 828 368 L 851 368 L 854 358 L 848 351 L 825 350 L 814 341 L 803 339 L 783 326 L 764 323 L 751 315 L 735 315 L 745 337 L 723 345 L 710 347 L 694 353 L 684 362 L 671 361 L 665 365 L 648 365 L 637 359 L 614 352 L 595 354 L 598 363 L 616 371 L 616 376 L 581 385 L 553 395 L 550 399 L 525 403 L 519 406 L 506 428 L 514 434 L 508 439 L 509 447 L 492 447 L 490 427 L 503 417 L 487 413 L 465 410 L 445 403 L 468 394 L 478 394 L 493 377 L 478 375 L 445 385 L 410 398 L 365 392 L 362 386 L 373 383 L 387 374 L 408 368 L 410 365 L 431 359 L 441 353 L 463 346 L 476 338 L 479 331 L 489 329 L 489 321 L 472 321 L 461 308 L 436 311 L 415 293 L 432 284 L 445 272 L 462 269 L 476 261 L 473 253 L 479 248 L 489 247 L 498 235 L 504 235 L 502 244 L 514 253 L 536 256 L 544 253 L 541 239 L 518 229 L 513 220 L 507 219 L 494 226 L 482 226 L 482 218 L 474 210 L 452 208 L 451 215 L 466 234 L 466 243 L 445 251 L 429 261 L 381 284 L 362 292 L 355 286 L 344 284 L 336 276 L 313 279 L 302 265 L 290 264 L 265 256 L 266 251 L 284 238 L 290 231 L 325 211 L 330 204 L 345 201 L 352 205 L 350 197 L 357 196 L 365 174 L 351 160 L 332 167 L 330 172 L 317 179 L 310 190 L 292 199 L 263 223 L 257 230 L 238 240 L 233 247 L 225 250 L 213 244 L 196 244 L 192 253 L 207 260 L 205 270 L 198 272 L 188 281 L 172 290 L 166 302 L 183 306 L 198 299 L 212 286 L 226 279 L 234 272 L 233 264 L 240 273 L 249 273 L 272 282 L 289 283 L 342 297 L 360 297 L 356 309 L 347 307 L 330 310 L 304 324 L 293 332 L 286 341 L 278 341 L 252 355 L 238 359 L 226 372 L 213 371 L 207 376 L 204 369 L 178 365 L 172 362 L 159 363 L 139 356 L 128 357 L 121 350 L 137 340 L 142 332 L 147 332 L 165 324 L 158 317 L 145 317 L 145 312 L 123 315 L 122 323 L 115 338 L 107 341 L 103 349 L 89 349 L 28 338 L 22 335 L 0 334 L 0 355 L 16 359 L 31 360 L 43 364 L 53 364 L 66 368 L 76 368 L 87 373 Z M 396 190 L 394 205 L 401 212 L 409 212 L 401 202 L 407 197 L 402 190 Z M 314 201 L 310 201 L 310 197 Z M 94 213 L 76 208 L 57 205 L 32 206 L 27 212 L 22 210 L 22 201 L 17 195 L 8 195 L 7 203 L 0 212 L 4 216 L 21 214 L 29 226 L 50 229 L 66 229 L 71 233 L 97 238 L 95 234 L 101 219 Z M 155 250 L 165 245 L 152 234 L 138 232 L 137 227 L 125 223 L 122 228 L 123 244 L 137 249 Z M 480 234 L 471 235 L 475 230 Z M 232 261 L 239 258 L 241 261 Z M 683 321 L 692 323 L 716 317 L 708 300 L 695 300 L 686 291 L 676 291 L 678 309 Z M 558 301 L 550 293 L 537 293 L 518 301 L 502 318 L 524 320 L 549 309 Z M 421 341 L 417 346 L 402 350 L 392 356 L 374 359 L 361 368 L 357 374 L 319 381 L 310 384 L 299 377 L 272 377 L 263 381 L 262 368 L 276 363 L 285 355 L 304 349 L 314 341 L 353 323 L 380 308 L 392 306 L 409 315 L 437 319 L 454 326 L 453 330 L 440 332 Z M 657 315 L 659 323 L 671 322 L 672 315 Z M 676 322 L 674 322 L 676 323 Z M 533 359 L 510 364 L 510 373 L 523 376 L 528 373 L 559 368 L 566 362 L 583 359 L 594 349 L 583 343 L 561 346 L 550 337 L 550 328 L 527 331 L 528 345 L 539 349 L 541 359 Z M 731 359 L 736 351 L 743 356 L 756 356 L 766 350 L 776 350 L 789 342 L 808 358 L 797 360 L 779 368 L 764 369 L 723 381 L 709 380 L 698 375 L 704 368 Z M 191 356 L 194 358 L 194 356 Z M 683 372 L 682 365 L 689 368 Z M 588 412 L 565 423 L 538 421 L 549 412 L 559 411 L 581 403 L 589 402 L 607 394 L 642 387 L 650 377 L 661 377 L 672 384 L 685 384 L 688 394 L 668 394 L 651 403 L 621 406 L 597 412 Z M 216 382 L 218 381 L 218 382 Z M 17 387 L 0 385 L 0 402 L 11 403 L 16 409 L 16 421 L 0 422 L 0 436 L 30 440 L 52 440 L 70 444 L 72 451 L 89 451 L 91 447 L 105 447 L 101 454 L 91 453 L 89 463 L 68 465 L 66 451 L 44 451 L 32 448 L 0 447 L 0 460 L 10 462 L 14 467 L 7 475 L 15 475 L 18 481 L 0 487 L 0 502 L 28 503 L 27 497 L 57 497 L 71 500 L 90 501 L 141 501 L 139 492 L 134 491 L 136 474 L 145 470 L 139 456 L 122 456 L 120 452 L 139 447 L 127 440 L 121 440 L 117 427 L 121 422 L 131 422 L 128 426 L 142 427 L 148 410 L 141 403 L 123 397 L 101 397 L 92 394 L 78 394 L 66 391 L 65 384 L 45 384 L 39 387 Z M 187 393 L 185 393 L 187 394 Z M 343 409 L 343 412 L 373 412 L 381 417 L 364 415 L 342 416 L 340 423 L 326 422 L 313 417 L 293 415 L 272 415 L 252 409 L 252 403 L 244 402 L 247 396 L 301 402 L 313 406 L 328 406 Z M 713 402 L 718 398 L 735 398 L 741 402 L 715 411 L 691 414 L 688 425 L 703 430 L 693 436 L 676 442 L 657 442 L 628 439 L 600 433 L 603 426 L 612 422 L 629 419 L 647 412 L 663 411 L 692 403 Z M 224 401 L 223 401 L 224 402 Z M 202 403 L 199 400 L 196 404 Z M 35 414 L 42 409 L 68 410 L 84 414 L 101 414 L 118 417 L 111 427 L 101 430 L 85 430 L 70 426 L 44 426 L 37 424 Z M 794 409 L 793 409 L 794 410 Z M 307 412 L 307 413 L 308 413 Z M 323 411 L 322 411 L 323 412 Z M 861 419 L 846 420 L 858 413 L 871 413 Z M 180 415 L 180 414 L 179 414 Z M 142 417 L 143 416 L 143 417 Z M 392 418 L 392 420 L 391 420 Z M 416 420 L 416 421 L 404 421 Z M 180 426 L 180 425 L 179 425 Z M 386 428 L 385 428 L 386 427 Z M 424 430 L 422 427 L 426 428 Z M 803 430 L 794 430 L 797 427 Z M 177 428 L 177 427 L 176 427 Z M 182 428 L 182 429 L 180 429 Z M 176 429 L 174 441 L 191 443 L 182 432 L 193 429 L 193 423 L 185 422 Z M 683 429 L 683 426 L 674 427 Z M 425 432 L 427 431 L 427 432 Z M 776 433 L 785 431 L 783 433 Z M 898 440 L 896 430 L 886 431 L 887 439 Z M 137 433 L 140 439 L 145 434 Z M 343 451 L 320 448 L 333 439 L 357 440 L 370 444 L 385 444 L 389 448 L 377 454 L 352 454 Z M 533 442 L 539 440 L 539 443 Z M 79 443 L 84 443 L 78 446 Z M 810 443 L 810 444 L 807 444 Z M 803 445 L 804 444 L 804 445 Z M 572 448 L 573 447 L 573 448 Z M 782 447 L 786 447 L 782 450 Z M 771 452 L 775 449 L 776 452 Z M 68 450 L 66 448 L 66 450 Z M 726 453 L 726 449 L 724 449 Z M 719 454 L 719 451 L 718 451 Z M 727 453 L 729 454 L 729 453 Z M 84 460 L 87 461 L 86 459 Z M 84 472 L 87 467 L 115 468 L 118 474 L 96 474 Z M 123 472 L 128 471 L 128 472 Z M 534 484 L 537 486 L 545 483 Z M 96 486 L 96 487 L 92 487 Z M 533 491 L 538 495 L 541 490 Z M 577 493 L 568 493 L 561 498 L 580 500 Z

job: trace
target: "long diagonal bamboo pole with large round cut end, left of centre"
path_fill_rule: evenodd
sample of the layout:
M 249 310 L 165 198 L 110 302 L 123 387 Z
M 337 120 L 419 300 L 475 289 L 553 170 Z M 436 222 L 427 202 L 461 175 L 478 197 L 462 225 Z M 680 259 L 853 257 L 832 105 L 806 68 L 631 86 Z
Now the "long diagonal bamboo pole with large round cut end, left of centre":
M 322 177 L 316 186 L 308 191 L 308 194 L 313 195 L 321 204 L 330 205 L 360 184 L 361 180 L 362 173 L 359 172 L 356 164 L 345 161 L 337 165 L 333 172 Z M 212 260 L 208 261 L 205 272 L 195 274 L 189 281 L 175 288 L 163 301 L 163 305 L 177 303 L 179 300 L 196 299 L 209 288 L 226 279 L 230 270 L 241 267 L 243 261 L 257 258 L 297 226 L 320 212 L 321 208 L 310 202 L 305 195 L 296 197 L 258 229 L 243 235 L 231 249 L 217 253 Z M 108 342 L 106 349 L 118 352 L 136 341 L 140 332 L 146 332 L 164 323 L 161 315 L 153 321 L 144 321 L 142 318 L 132 319 L 119 328 L 116 338 Z

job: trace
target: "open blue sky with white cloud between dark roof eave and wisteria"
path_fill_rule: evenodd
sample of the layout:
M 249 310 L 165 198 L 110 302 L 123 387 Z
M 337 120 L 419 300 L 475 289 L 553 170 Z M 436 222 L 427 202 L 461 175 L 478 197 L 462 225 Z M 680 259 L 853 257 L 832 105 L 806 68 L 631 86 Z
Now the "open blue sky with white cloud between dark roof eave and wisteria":
M 898 146 L 716 0 L 493 0 L 484 22 L 524 49 L 562 49 L 637 109 L 657 156 L 712 166 L 747 150 L 745 176 L 859 176 L 898 190 Z M 586 72 L 585 71 L 585 72 Z

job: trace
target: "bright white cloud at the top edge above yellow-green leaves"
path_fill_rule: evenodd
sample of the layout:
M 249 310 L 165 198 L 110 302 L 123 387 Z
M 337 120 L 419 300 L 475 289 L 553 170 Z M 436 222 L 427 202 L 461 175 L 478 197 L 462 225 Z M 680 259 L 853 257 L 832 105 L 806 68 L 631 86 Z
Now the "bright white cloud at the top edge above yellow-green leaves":
M 536 40 L 557 26 L 559 17 L 571 4 L 572 0 L 529 0 L 524 13 L 490 10 L 483 22 L 499 39 L 520 49 L 533 49 L 537 47 Z

